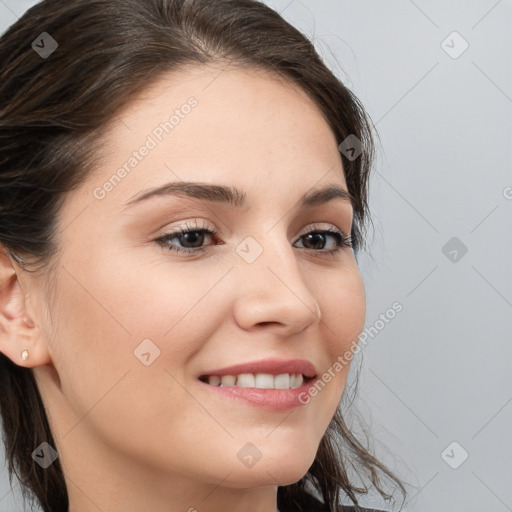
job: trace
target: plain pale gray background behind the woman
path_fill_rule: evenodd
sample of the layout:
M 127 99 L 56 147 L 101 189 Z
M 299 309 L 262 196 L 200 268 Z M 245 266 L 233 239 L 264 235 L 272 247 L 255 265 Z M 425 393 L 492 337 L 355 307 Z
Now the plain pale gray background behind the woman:
M 34 3 L 0 0 L 0 30 Z M 380 134 L 367 326 L 403 311 L 352 367 L 372 446 L 409 484 L 404 511 L 512 511 L 512 2 L 266 3 L 314 38 Z M 3 475 L 0 512 L 23 510 Z

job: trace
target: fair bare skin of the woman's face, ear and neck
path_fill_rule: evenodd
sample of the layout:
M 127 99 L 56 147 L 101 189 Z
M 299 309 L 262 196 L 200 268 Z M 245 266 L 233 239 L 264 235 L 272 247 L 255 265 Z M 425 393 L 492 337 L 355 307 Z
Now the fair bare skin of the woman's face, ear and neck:
M 191 96 L 197 107 L 96 199 L 95 188 Z M 365 295 L 352 249 L 328 256 L 334 238 L 307 249 L 303 236 L 312 225 L 349 234 L 350 203 L 297 207 L 313 189 L 347 188 L 339 141 L 295 86 L 215 66 L 161 78 L 105 140 L 104 158 L 60 210 L 53 267 L 29 274 L 0 259 L 0 349 L 33 368 L 69 511 L 273 512 L 277 487 L 313 463 L 349 365 L 285 412 L 216 396 L 197 376 L 272 357 L 308 359 L 321 375 L 361 333 Z M 236 186 L 250 207 L 160 196 L 126 208 L 141 191 L 181 180 Z M 205 235 L 205 252 L 155 242 L 185 222 L 218 230 Z M 250 264 L 235 250 L 247 236 L 263 249 Z M 160 350 L 149 366 L 134 356 L 144 339 Z M 248 442 L 262 453 L 250 468 L 237 457 Z

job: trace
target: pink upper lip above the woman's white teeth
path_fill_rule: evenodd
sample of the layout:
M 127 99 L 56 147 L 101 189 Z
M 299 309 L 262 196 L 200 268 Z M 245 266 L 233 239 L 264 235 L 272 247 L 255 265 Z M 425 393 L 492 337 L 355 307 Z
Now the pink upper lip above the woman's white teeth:
M 301 373 L 309 378 L 316 376 L 316 368 L 305 359 L 263 359 L 209 370 L 203 373 L 201 377 L 211 375 L 240 375 L 242 373 L 268 373 L 270 375 Z

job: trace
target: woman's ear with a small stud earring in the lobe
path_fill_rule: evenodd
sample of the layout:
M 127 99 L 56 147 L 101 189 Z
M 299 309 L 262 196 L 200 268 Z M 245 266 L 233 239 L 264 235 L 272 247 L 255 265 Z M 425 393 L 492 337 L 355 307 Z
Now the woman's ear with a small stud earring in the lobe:
M 19 366 L 33 368 L 51 359 L 37 321 L 29 314 L 30 294 L 26 288 L 32 280 L 22 283 L 24 272 L 0 246 L 0 352 Z M 28 351 L 25 360 L 21 357 L 24 350 Z

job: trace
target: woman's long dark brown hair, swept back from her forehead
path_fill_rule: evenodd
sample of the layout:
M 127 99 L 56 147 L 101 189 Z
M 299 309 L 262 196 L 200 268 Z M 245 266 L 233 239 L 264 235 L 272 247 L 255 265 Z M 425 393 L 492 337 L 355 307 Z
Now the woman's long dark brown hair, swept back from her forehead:
M 51 54 L 37 51 L 52 49 L 42 32 L 57 42 Z M 41 38 L 46 45 L 32 46 Z M 57 253 L 55 218 L 65 194 L 93 169 L 116 112 L 164 73 L 224 62 L 272 71 L 297 84 L 339 143 L 349 135 L 361 141 L 358 158 L 340 153 L 357 252 L 369 220 L 372 124 L 311 41 L 256 0 L 45 0 L 14 23 L 0 38 L 0 249 L 25 271 L 47 268 Z M 31 457 L 43 441 L 56 446 L 32 370 L 0 354 L 0 390 L 11 483 L 16 474 L 24 497 L 35 496 L 46 512 L 67 511 L 59 459 L 42 469 Z M 385 499 L 392 496 L 382 475 L 405 499 L 403 484 L 356 439 L 339 406 L 307 474 L 279 487 L 279 508 L 306 510 L 308 487 L 330 512 L 338 510 L 340 491 L 357 506 L 357 495 L 369 489 L 351 481 L 348 466 L 369 475 Z

